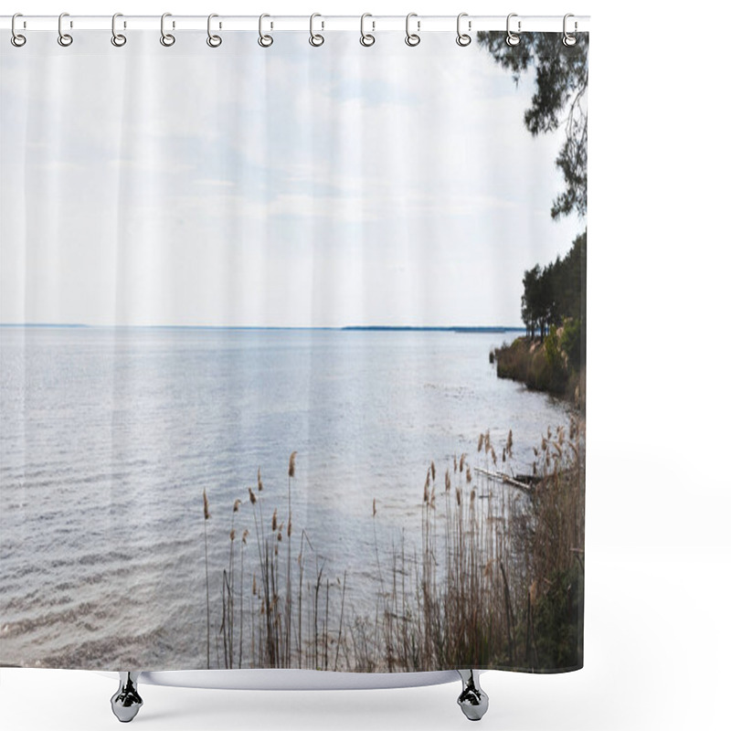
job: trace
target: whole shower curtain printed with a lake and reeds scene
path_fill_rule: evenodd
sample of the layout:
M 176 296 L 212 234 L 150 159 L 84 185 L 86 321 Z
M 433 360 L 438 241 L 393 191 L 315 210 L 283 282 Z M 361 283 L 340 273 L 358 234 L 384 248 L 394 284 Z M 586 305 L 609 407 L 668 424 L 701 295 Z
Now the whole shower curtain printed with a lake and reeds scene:
M 0 663 L 577 669 L 588 34 L 260 28 L 0 44 Z

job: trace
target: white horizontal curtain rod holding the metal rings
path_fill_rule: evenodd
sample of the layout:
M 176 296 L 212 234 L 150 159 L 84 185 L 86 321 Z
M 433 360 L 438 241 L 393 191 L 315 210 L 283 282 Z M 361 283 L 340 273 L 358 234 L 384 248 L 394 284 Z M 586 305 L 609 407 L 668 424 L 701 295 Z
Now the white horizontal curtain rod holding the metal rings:
M 517 29 L 520 22 L 521 31 L 553 31 L 562 32 L 564 16 L 521 16 L 511 14 L 511 27 Z M 569 16 L 570 32 L 581 33 L 589 29 L 589 16 Z M 159 30 L 160 16 L 124 16 L 116 20 L 119 30 Z M 361 29 L 361 16 L 326 16 L 316 14 L 315 29 L 352 30 Z M 434 31 L 454 31 L 457 27 L 457 15 L 454 16 L 412 16 L 411 27 L 419 33 Z M 365 23 L 369 32 L 398 30 L 403 31 L 406 16 L 366 16 Z M 12 16 L 0 16 L 0 28 L 10 30 Z M 64 17 L 64 26 L 73 30 L 111 30 L 111 16 L 74 16 Z M 165 18 L 165 26 L 175 31 L 207 30 L 208 16 L 176 16 Z M 507 26 L 507 16 L 462 16 L 462 32 L 475 33 L 479 30 L 501 30 Z M 260 16 L 215 16 L 214 27 L 217 30 L 233 31 L 260 29 Z M 310 16 L 267 16 L 265 27 L 268 31 L 309 31 Z M 17 31 L 58 30 L 58 16 L 25 16 L 16 17 Z

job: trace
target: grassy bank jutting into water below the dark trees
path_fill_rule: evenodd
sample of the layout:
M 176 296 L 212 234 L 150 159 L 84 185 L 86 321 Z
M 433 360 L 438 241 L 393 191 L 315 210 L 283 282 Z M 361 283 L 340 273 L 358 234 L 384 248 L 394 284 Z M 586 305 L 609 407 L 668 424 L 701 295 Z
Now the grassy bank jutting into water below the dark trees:
M 499 378 L 566 398 L 583 412 L 586 406 L 586 358 L 578 327 L 551 328 L 543 342 L 519 337 L 490 354 Z

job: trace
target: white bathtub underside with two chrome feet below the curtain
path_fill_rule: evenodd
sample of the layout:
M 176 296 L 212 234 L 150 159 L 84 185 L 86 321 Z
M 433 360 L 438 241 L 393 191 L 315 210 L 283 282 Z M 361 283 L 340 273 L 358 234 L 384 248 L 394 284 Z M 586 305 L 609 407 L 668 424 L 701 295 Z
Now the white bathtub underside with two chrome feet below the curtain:
M 167 685 L 178 688 L 207 688 L 251 691 L 375 690 L 412 688 L 453 683 L 458 678 L 462 691 L 457 698 L 462 713 L 479 721 L 488 707 L 487 694 L 480 687 L 478 670 L 445 670 L 431 673 L 334 673 L 321 670 L 175 670 L 102 673 L 116 677 L 119 688 L 111 696 L 111 710 L 122 723 L 132 721 L 143 705 L 139 686 Z

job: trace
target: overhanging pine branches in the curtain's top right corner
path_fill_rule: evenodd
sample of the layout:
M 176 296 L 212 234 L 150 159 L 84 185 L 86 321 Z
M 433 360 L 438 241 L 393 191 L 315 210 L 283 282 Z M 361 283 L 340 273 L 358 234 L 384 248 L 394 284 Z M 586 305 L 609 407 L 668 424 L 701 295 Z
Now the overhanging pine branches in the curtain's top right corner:
M 551 217 L 572 210 L 587 214 L 587 104 L 588 33 L 578 33 L 574 46 L 564 46 L 560 33 L 522 33 L 520 43 L 508 46 L 503 32 L 480 31 L 477 42 L 513 72 L 515 85 L 529 66 L 535 66 L 535 94 L 524 113 L 533 135 L 566 131 L 556 158 L 564 175 L 565 190 L 554 200 Z

